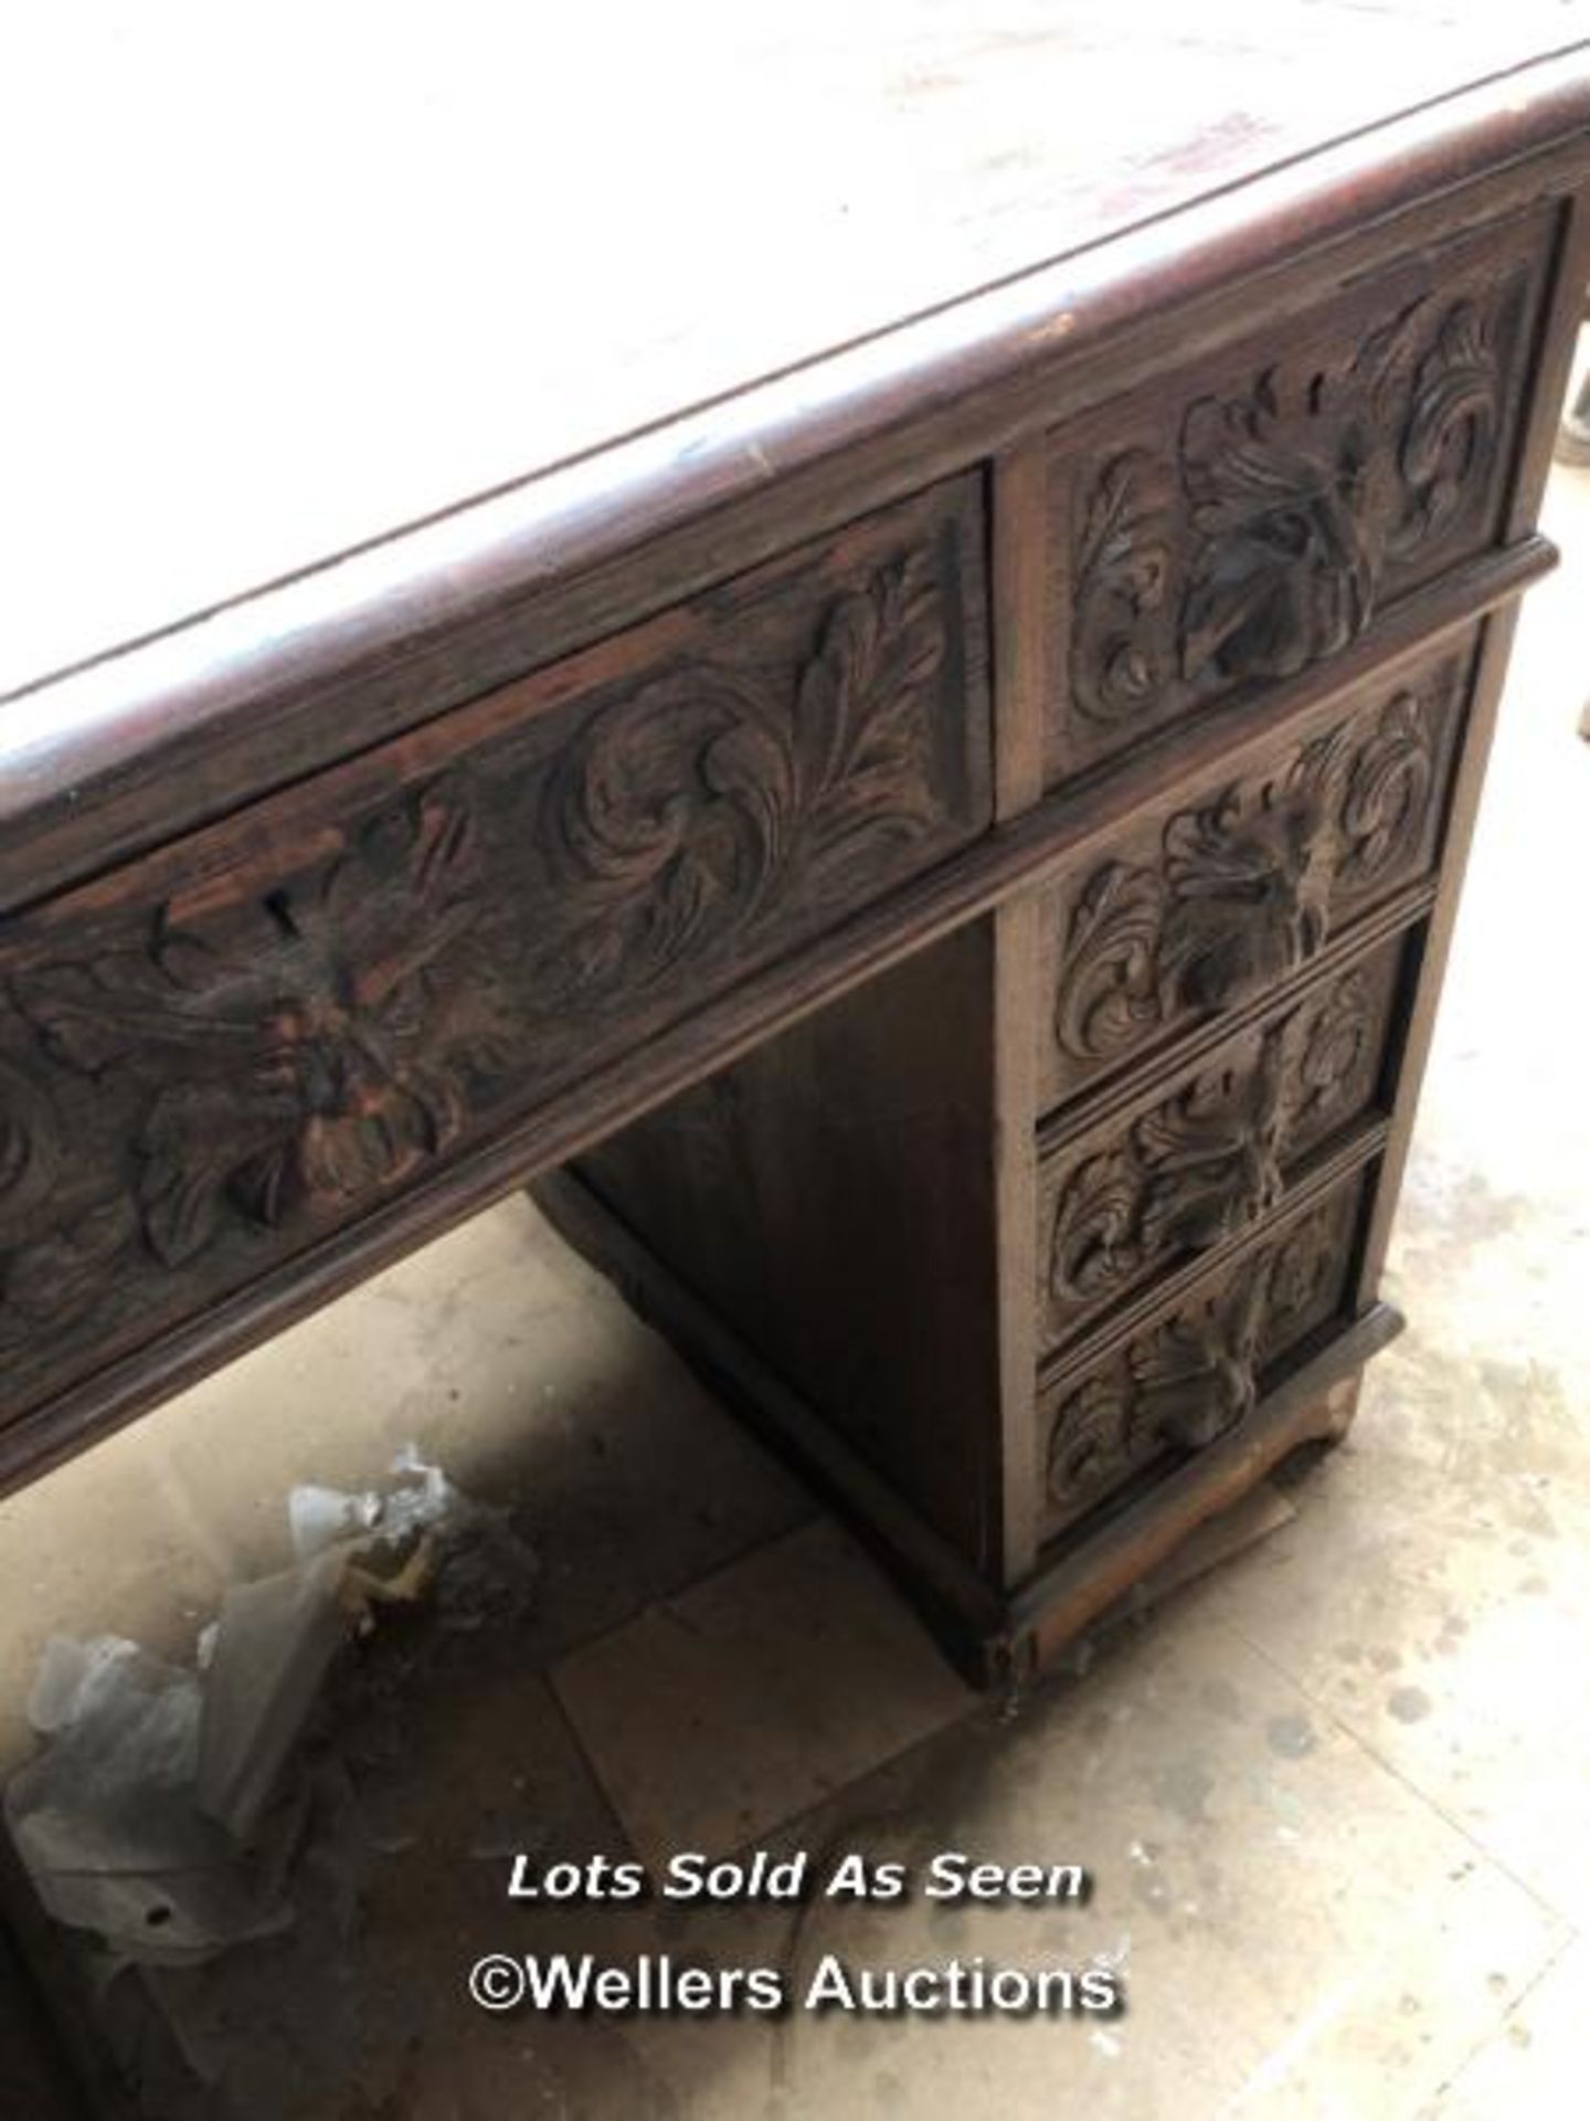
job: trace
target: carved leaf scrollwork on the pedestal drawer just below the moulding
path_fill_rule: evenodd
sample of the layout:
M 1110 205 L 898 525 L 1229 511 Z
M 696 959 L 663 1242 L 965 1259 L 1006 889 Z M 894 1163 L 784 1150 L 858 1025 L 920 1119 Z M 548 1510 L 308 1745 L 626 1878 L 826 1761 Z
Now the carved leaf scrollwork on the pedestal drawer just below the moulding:
M 1325 944 L 1338 895 L 1408 861 L 1433 793 L 1431 715 L 1399 691 L 1285 772 L 1177 812 L 1158 870 L 1109 861 L 1077 899 L 1056 988 L 1062 1052 L 1115 1060 L 1183 1012 L 1289 978 Z

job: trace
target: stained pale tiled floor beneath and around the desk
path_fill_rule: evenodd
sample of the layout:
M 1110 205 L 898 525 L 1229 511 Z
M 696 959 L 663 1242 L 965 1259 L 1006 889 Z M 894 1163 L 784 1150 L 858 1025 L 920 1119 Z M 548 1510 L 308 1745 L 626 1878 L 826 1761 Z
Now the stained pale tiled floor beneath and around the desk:
M 161 2000 L 276 2115 L 1584 2110 L 1590 1983 L 1590 473 L 1529 604 L 1393 1251 L 1408 1334 L 1295 1514 L 1013 1720 L 524 1203 L 0 1506 L 0 1758 L 51 1631 L 189 1654 L 305 1478 L 413 1438 L 511 1500 L 528 1627 L 373 1684 L 339 1748 L 386 1854 L 307 1939 Z M 379 1652 L 377 1652 L 379 1669 Z M 967 1847 L 1077 1907 L 545 1913 L 507 1854 Z M 806 1968 L 1109 1953 L 1100 2021 L 488 2017 L 490 1949 Z M 244 2030 L 246 2028 L 246 2030 Z

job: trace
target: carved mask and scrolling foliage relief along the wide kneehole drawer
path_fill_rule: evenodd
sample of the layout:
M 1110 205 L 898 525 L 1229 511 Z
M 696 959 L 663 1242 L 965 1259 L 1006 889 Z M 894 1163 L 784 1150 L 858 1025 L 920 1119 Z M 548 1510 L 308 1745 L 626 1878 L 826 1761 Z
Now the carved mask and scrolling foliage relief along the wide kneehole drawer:
M 681 666 L 507 787 L 460 770 L 263 895 L 165 904 L 98 957 L 19 971 L 0 1332 L 57 1287 L 91 1309 L 134 1251 L 180 1268 L 223 1230 L 379 1196 L 545 1080 L 570 1027 L 820 904 L 856 851 L 884 870 L 880 842 L 941 831 L 935 551 L 833 596 L 793 668 Z M 78 1171 L 51 1207 L 53 1071 L 129 1114 L 121 1194 L 85 1207 Z

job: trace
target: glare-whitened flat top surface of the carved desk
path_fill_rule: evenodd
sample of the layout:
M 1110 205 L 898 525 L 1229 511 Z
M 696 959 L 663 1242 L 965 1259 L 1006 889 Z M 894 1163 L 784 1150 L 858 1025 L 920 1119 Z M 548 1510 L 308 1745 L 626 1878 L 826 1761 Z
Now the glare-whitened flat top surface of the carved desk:
M 1107 242 L 1588 17 L 585 0 L 553 32 L 509 0 L 8 11 L 0 691 Z

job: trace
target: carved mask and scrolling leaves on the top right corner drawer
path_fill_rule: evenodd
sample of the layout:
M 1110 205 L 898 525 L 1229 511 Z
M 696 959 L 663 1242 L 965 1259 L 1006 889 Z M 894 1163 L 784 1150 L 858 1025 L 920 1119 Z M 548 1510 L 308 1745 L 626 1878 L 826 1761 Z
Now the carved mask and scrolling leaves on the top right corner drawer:
M 1386 566 L 1444 539 L 1497 469 L 1522 282 L 1418 297 L 1346 363 L 1261 369 L 1191 401 L 1174 452 L 1105 460 L 1081 507 L 1071 691 L 1096 725 L 1355 641 Z

